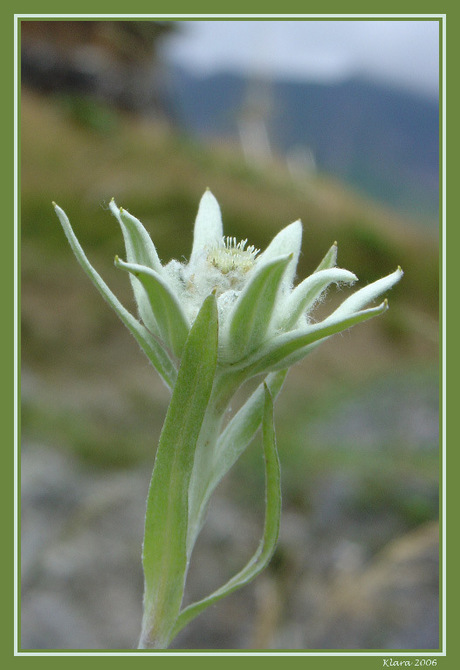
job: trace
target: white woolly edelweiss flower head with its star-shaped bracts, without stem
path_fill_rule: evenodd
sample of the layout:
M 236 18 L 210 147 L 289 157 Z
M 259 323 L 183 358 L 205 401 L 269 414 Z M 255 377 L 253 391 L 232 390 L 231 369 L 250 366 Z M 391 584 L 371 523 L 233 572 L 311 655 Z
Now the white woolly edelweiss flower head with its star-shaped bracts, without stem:
M 319 341 L 381 314 L 385 300 L 367 307 L 402 277 L 402 270 L 355 292 L 319 323 L 309 313 L 331 284 L 353 284 L 357 278 L 335 267 L 334 244 L 315 272 L 294 287 L 302 226 L 295 221 L 281 230 L 264 252 L 224 237 L 219 205 L 207 190 L 195 221 L 188 263 L 172 260 L 163 266 L 155 246 L 138 219 L 117 207 L 126 246 L 126 261 L 115 265 L 131 276 L 140 320 L 119 303 L 83 253 L 67 216 L 57 215 L 73 251 L 93 283 L 172 386 L 190 327 L 205 298 L 214 293 L 219 314 L 219 359 L 222 369 L 245 376 L 281 370 L 303 358 Z

